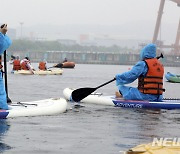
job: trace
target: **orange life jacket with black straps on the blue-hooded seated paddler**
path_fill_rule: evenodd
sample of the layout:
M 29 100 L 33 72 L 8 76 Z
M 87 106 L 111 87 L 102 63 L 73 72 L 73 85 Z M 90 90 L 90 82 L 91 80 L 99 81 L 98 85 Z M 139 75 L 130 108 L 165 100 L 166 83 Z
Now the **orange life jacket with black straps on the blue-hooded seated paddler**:
M 138 89 L 144 94 L 161 95 L 163 89 L 164 66 L 157 58 L 145 60 L 148 72 L 138 78 Z

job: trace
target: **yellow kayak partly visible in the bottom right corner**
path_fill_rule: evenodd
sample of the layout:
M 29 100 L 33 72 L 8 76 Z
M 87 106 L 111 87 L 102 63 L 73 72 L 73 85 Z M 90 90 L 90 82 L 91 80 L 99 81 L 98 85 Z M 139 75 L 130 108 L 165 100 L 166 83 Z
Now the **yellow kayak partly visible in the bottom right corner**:
M 179 152 L 180 143 L 169 140 L 156 144 L 153 142 L 148 144 L 141 144 L 126 151 L 127 154 L 178 154 Z

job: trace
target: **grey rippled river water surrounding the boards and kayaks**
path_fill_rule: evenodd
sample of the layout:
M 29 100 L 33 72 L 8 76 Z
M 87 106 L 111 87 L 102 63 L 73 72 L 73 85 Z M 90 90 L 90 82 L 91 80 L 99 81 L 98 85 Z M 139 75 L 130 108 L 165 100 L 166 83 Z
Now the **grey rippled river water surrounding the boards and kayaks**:
M 37 68 L 37 64 L 33 64 Z M 49 64 L 52 66 L 53 64 Z M 63 75 L 13 75 L 8 66 L 13 101 L 63 97 L 66 87 L 96 87 L 131 66 L 77 64 Z M 180 74 L 179 68 L 165 72 Z M 136 86 L 133 83 L 132 86 Z M 180 98 L 180 84 L 166 82 L 166 98 Z M 115 82 L 98 90 L 111 95 Z M 84 104 L 56 116 L 19 117 L 0 121 L 0 152 L 10 154 L 118 154 L 157 137 L 180 137 L 180 110 L 136 110 Z

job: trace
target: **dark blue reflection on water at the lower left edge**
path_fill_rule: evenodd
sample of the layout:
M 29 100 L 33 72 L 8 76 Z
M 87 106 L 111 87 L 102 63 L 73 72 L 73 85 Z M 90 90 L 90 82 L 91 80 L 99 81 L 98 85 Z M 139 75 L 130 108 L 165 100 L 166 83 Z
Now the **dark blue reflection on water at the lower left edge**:
M 3 138 L 6 132 L 8 131 L 10 125 L 8 124 L 7 120 L 0 119 L 0 153 L 3 151 L 11 149 L 9 145 L 3 143 Z

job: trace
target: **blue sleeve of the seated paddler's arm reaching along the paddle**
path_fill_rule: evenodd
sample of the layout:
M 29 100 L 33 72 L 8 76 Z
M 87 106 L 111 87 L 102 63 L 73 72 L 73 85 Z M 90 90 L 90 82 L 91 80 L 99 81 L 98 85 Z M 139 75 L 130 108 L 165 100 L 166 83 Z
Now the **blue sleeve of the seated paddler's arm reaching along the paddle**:
M 141 74 L 145 75 L 148 68 L 144 61 L 139 61 L 133 68 L 122 74 L 116 75 L 116 85 L 129 84 L 135 81 Z

